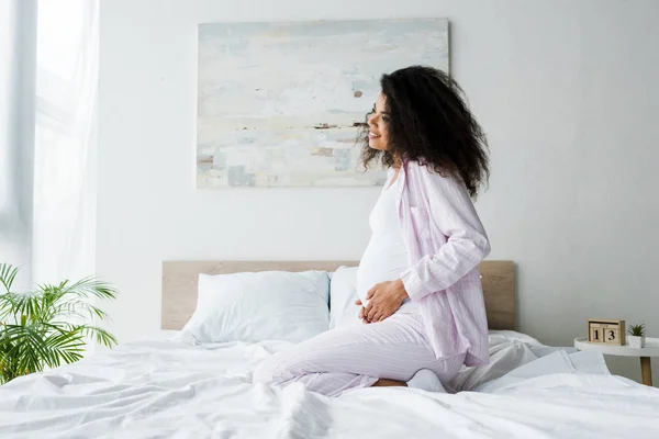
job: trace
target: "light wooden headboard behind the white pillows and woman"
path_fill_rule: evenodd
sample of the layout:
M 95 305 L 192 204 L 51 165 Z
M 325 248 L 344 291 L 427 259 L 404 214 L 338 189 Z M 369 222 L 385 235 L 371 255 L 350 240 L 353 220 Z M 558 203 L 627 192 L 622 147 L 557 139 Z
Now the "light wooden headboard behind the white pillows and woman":
M 197 306 L 200 273 L 228 274 L 243 271 L 334 271 L 355 261 L 258 262 L 258 261 L 166 261 L 163 262 L 161 328 L 181 329 Z M 490 329 L 515 329 L 515 264 L 512 261 L 483 261 L 480 272 Z

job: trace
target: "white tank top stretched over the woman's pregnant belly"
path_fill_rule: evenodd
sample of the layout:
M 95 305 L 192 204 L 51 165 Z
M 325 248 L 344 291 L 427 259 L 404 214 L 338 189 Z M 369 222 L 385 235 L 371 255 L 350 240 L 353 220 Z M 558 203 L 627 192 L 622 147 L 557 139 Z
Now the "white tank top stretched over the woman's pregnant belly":
M 370 216 L 371 238 L 357 269 L 357 293 L 366 305 L 366 294 L 377 283 L 400 279 L 410 267 L 396 207 L 396 193 L 401 179 L 386 185 L 380 192 Z M 401 308 L 414 307 L 409 299 Z

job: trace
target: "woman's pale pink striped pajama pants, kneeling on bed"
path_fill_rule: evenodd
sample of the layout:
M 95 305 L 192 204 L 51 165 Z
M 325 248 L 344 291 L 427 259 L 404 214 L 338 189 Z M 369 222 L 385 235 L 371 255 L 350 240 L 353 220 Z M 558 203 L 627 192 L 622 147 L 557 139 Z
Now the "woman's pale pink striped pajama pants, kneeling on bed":
M 442 383 L 453 379 L 465 354 L 435 358 L 421 315 L 399 312 L 383 322 L 333 329 L 278 352 L 261 362 L 254 382 L 306 389 L 337 396 L 369 387 L 379 379 L 409 381 L 429 369 Z

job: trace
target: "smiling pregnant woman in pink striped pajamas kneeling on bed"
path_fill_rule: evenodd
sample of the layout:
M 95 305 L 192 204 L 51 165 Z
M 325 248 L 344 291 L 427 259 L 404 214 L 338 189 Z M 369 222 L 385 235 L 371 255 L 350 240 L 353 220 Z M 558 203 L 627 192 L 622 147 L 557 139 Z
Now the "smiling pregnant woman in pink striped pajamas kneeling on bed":
M 335 396 L 369 386 L 442 392 L 489 361 L 478 264 L 490 245 L 471 199 L 489 177 L 487 140 L 443 71 L 383 75 L 364 164 L 388 169 L 357 273 L 364 325 L 330 330 L 264 361 L 255 382 Z

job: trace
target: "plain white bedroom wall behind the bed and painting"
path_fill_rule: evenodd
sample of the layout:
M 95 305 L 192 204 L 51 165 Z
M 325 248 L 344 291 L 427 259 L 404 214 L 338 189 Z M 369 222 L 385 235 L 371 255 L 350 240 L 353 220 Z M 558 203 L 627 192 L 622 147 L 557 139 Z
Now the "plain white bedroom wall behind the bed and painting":
M 377 189 L 194 188 L 198 23 L 447 16 L 491 143 L 477 206 L 490 259 L 518 264 L 518 329 L 571 345 L 599 316 L 659 336 L 658 14 L 652 0 L 103 1 L 97 261 L 122 293 L 115 333 L 158 328 L 163 260 L 358 259 L 367 244 Z M 639 376 L 637 360 L 611 364 Z

